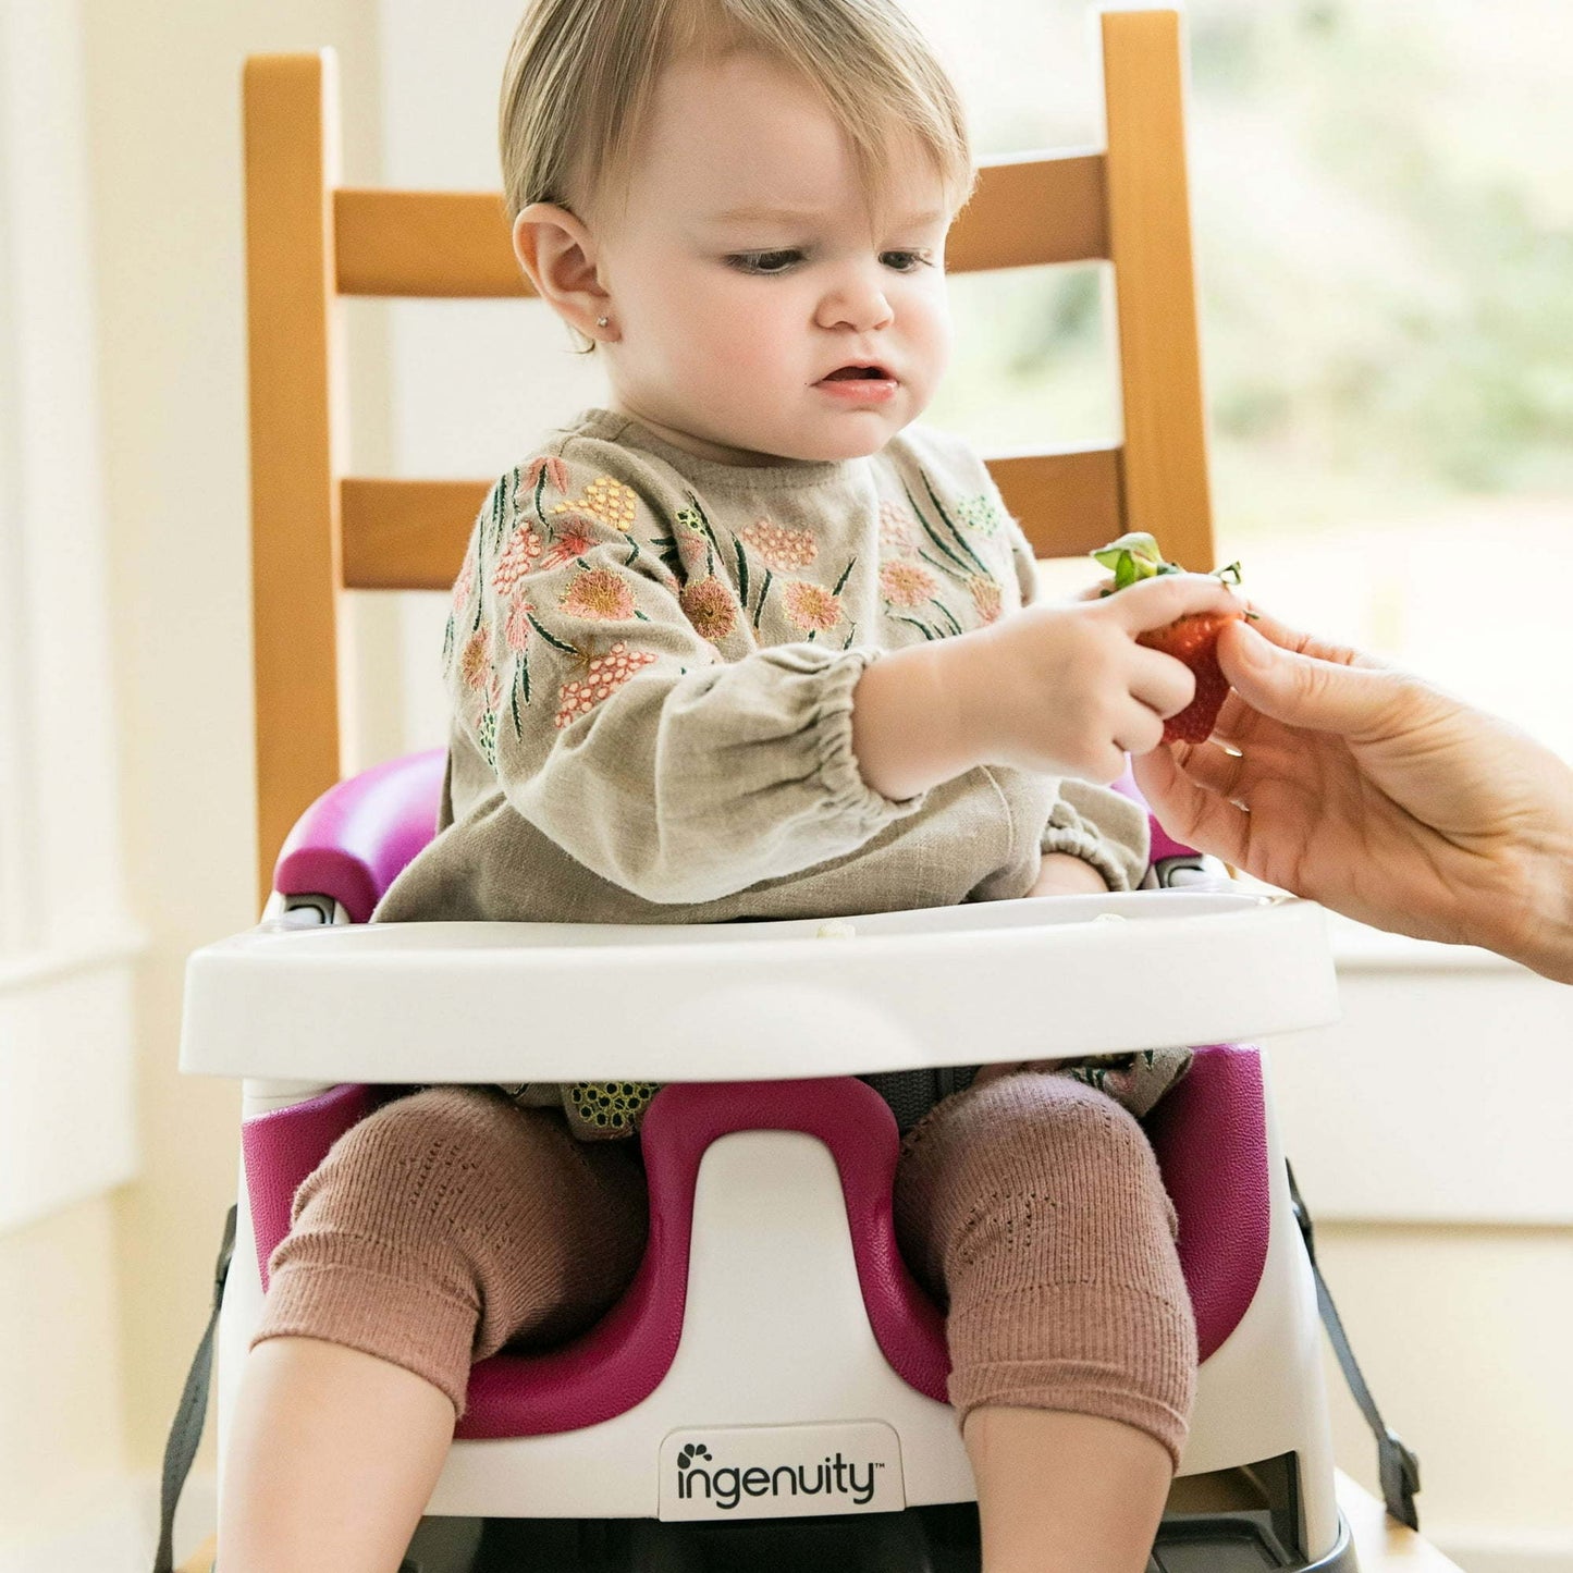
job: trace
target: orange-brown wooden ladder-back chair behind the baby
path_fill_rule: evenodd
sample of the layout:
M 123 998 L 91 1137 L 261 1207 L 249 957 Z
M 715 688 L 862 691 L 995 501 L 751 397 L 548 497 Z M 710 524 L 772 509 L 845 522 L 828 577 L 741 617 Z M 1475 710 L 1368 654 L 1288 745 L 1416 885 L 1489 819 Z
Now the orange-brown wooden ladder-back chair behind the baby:
M 1213 566 L 1178 13 L 1101 17 L 1107 148 L 985 160 L 953 272 L 1109 260 L 1125 442 L 989 459 L 1040 557 L 1148 530 Z M 332 50 L 245 64 L 258 878 L 340 779 L 344 590 L 445 590 L 492 477 L 346 475 L 344 296 L 527 296 L 495 192 L 340 184 Z M 310 653 L 310 659 L 305 658 Z

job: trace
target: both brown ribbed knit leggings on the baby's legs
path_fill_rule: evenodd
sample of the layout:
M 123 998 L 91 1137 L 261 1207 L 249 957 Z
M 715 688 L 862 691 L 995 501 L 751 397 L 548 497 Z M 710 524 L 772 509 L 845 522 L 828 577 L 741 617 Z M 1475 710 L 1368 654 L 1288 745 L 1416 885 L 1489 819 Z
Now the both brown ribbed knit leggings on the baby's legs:
M 950 1402 L 1123 1420 L 1178 1460 L 1195 1324 L 1173 1210 L 1120 1104 L 1018 1071 L 938 1104 L 903 1142 L 901 1252 L 949 1307 Z M 403 1365 L 456 1411 L 472 1361 L 560 1342 L 645 1249 L 634 1142 L 555 1109 L 436 1087 L 348 1131 L 300 1186 L 253 1343 L 326 1339 Z

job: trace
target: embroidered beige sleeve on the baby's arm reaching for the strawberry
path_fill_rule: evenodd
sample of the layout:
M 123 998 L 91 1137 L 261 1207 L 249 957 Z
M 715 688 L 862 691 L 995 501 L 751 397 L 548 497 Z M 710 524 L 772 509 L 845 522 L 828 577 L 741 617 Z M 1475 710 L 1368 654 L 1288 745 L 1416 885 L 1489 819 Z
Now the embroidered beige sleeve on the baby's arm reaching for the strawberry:
M 455 716 L 508 805 L 656 903 L 798 873 L 915 813 L 857 771 L 853 689 L 879 650 L 815 642 L 834 598 L 794 582 L 807 637 L 755 648 L 736 541 L 697 497 L 593 458 L 503 477 L 455 590 Z

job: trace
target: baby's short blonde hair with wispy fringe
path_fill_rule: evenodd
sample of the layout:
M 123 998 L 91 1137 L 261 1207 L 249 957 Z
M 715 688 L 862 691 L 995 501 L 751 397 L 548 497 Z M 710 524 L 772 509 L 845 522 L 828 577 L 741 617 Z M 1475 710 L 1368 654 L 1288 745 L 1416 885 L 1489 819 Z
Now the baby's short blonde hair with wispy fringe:
M 961 99 L 895 0 L 532 0 L 508 50 L 499 140 L 508 217 L 547 201 L 590 220 L 628 193 L 634 145 L 675 60 L 750 50 L 813 88 L 864 190 L 914 135 L 955 212 L 972 192 Z

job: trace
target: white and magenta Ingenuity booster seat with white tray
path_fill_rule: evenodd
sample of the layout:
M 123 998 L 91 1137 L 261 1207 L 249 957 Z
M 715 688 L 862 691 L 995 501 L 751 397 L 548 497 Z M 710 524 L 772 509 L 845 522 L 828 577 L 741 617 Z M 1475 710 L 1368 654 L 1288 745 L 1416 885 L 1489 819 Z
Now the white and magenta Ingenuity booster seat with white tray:
M 294 1189 L 400 1090 L 368 1081 L 650 1079 L 665 1085 L 642 1133 L 643 1265 L 582 1337 L 475 1367 L 411 1565 L 514 1565 L 488 1560 L 503 1556 L 495 1532 L 477 1551 L 478 1524 L 442 1520 L 552 1521 L 552 1567 L 700 1568 L 730 1565 L 703 1540 L 714 1524 L 812 1515 L 823 1527 L 831 1515 L 903 1509 L 926 1520 L 904 1520 L 875 1565 L 967 1565 L 971 1524 L 947 1509 L 972 1499 L 972 1482 L 944 1402 L 942 1318 L 893 1243 L 895 1120 L 848 1073 L 941 1065 L 969 1033 L 999 1057 L 1030 1054 L 1041 1048 L 1032 980 L 1052 967 L 1059 1048 L 1210 1044 L 1147 1122 L 1180 1216 L 1202 1356 L 1156 1565 L 1353 1567 L 1332 1499 L 1315 1290 L 1265 1068 L 1255 1049 L 1211 1041 L 1335 1015 L 1318 909 L 1172 889 L 886 912 L 824 936 L 816 920 L 365 926 L 431 834 L 440 771 L 440 752 L 415 755 L 329 791 L 286 843 L 263 923 L 190 963 L 184 1068 L 267 1078 L 244 1092 L 220 1468 Z M 1183 849 L 1159 832 L 1158 854 Z M 930 958 L 958 950 L 974 980 L 966 1000 L 928 982 L 941 975 Z M 1133 952 L 1153 980 L 1139 1000 L 1120 988 Z M 580 985 L 588 967 L 593 991 Z M 670 1005 L 651 1011 L 656 969 Z M 747 1000 L 755 1022 L 750 1076 L 771 1079 L 730 1079 L 728 999 Z M 466 1015 L 481 1008 L 527 1011 L 529 1043 L 499 1049 L 472 1032 Z M 1210 1501 L 1195 1477 L 1225 1469 L 1249 1469 L 1254 1501 L 1191 1510 Z M 606 1520 L 631 1521 L 610 1551 Z M 683 1521 L 700 1521 L 689 1538 Z M 541 1554 L 525 1526 L 514 1537 Z M 769 1565 L 758 1545 L 746 1554 Z

